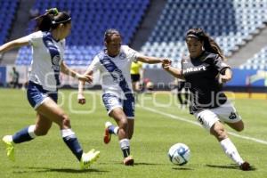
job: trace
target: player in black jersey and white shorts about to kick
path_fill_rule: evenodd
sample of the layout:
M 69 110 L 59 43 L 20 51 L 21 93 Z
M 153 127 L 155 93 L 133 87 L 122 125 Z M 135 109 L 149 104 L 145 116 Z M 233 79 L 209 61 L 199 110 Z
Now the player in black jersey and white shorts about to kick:
M 214 135 L 225 154 L 241 170 L 250 170 L 251 166 L 239 156 L 222 124 L 238 132 L 244 129 L 241 117 L 221 89 L 221 82 L 231 80 L 231 67 L 223 61 L 224 56 L 218 44 L 203 29 L 189 29 L 186 44 L 190 55 L 182 57 L 182 69 L 171 67 L 171 63 L 162 64 L 163 69 L 174 77 L 185 79 L 191 94 L 190 114 L 197 117 L 198 122 Z

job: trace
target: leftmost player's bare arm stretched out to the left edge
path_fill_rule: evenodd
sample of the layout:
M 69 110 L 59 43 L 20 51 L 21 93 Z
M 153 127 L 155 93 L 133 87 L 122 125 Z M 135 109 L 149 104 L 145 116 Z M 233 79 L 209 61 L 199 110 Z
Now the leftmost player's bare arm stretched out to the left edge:
M 28 38 L 27 37 L 20 37 L 19 39 L 12 40 L 6 44 L 0 46 L 0 53 L 7 52 L 12 50 L 13 48 L 18 48 L 23 45 L 28 45 Z

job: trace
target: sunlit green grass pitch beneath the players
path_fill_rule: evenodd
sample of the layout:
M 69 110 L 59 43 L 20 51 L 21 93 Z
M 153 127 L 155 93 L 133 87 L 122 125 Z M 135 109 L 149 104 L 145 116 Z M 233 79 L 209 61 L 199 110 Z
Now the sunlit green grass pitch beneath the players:
M 69 114 L 72 129 L 84 150 L 101 150 L 101 157 L 88 170 L 79 169 L 76 158 L 62 142 L 58 126 L 53 125 L 46 136 L 16 145 L 14 163 L 6 158 L 4 144 L 0 144 L 0 177 L 267 177 L 266 100 L 236 100 L 235 106 L 246 128 L 237 133 L 226 126 L 232 134 L 243 136 L 230 135 L 240 155 L 255 166 L 254 171 L 243 172 L 224 155 L 213 136 L 194 125 L 196 119 L 190 116 L 188 110 L 179 109 L 171 93 L 139 96 L 131 141 L 135 165 L 123 166 L 117 138 L 113 136 L 109 145 L 102 142 L 105 121 L 114 121 L 107 117 L 100 95 L 100 92 L 88 92 L 85 106 L 80 106 L 77 104 L 77 91 L 61 90 L 60 104 Z M 1 138 L 34 124 L 35 116 L 25 91 L 0 89 Z M 191 158 L 185 166 L 174 166 L 167 158 L 167 150 L 176 142 L 190 147 Z

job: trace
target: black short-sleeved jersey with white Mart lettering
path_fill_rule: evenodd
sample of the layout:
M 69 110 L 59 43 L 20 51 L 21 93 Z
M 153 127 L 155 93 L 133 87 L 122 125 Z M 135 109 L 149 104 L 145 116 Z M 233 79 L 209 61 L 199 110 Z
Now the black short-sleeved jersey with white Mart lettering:
M 186 87 L 191 93 L 191 114 L 201 109 L 217 108 L 227 101 L 218 74 L 230 67 L 219 55 L 204 52 L 197 59 L 184 56 L 181 62 Z

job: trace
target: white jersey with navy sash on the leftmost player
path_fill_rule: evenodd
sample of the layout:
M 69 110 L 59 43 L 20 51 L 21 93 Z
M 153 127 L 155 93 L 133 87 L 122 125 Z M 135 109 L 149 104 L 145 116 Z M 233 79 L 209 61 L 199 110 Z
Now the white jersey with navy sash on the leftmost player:
M 65 39 L 55 41 L 50 32 L 37 31 L 28 36 L 33 59 L 29 80 L 42 85 L 45 90 L 56 91 L 60 85 L 61 61 L 65 50 Z

